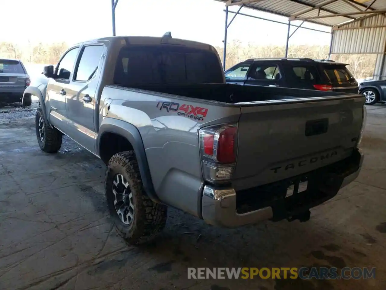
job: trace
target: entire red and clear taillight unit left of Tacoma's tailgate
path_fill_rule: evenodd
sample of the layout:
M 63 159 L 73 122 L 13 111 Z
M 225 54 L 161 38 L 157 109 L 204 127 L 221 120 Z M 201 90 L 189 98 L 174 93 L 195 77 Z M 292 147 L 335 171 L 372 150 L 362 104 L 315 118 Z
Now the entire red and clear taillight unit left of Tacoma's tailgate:
M 229 181 L 232 178 L 238 139 L 237 124 L 211 126 L 200 130 L 202 171 L 207 181 Z

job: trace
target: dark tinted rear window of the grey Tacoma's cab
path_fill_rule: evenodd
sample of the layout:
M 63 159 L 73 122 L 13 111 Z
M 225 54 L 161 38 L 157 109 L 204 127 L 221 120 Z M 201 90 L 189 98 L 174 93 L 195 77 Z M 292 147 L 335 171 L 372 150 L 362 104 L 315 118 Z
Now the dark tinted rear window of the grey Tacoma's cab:
M 167 45 L 125 47 L 118 56 L 114 83 L 125 87 L 223 83 L 223 71 L 210 51 Z

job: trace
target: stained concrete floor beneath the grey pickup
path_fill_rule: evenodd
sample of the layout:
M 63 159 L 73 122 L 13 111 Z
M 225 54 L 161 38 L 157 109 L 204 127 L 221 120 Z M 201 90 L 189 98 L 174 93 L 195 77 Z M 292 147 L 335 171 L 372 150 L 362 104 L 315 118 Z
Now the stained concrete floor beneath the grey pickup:
M 105 167 L 65 140 L 36 141 L 34 108 L 0 108 L 0 289 L 385 289 L 386 105 L 368 107 L 358 179 L 306 223 L 218 229 L 169 210 L 160 237 L 117 237 L 103 195 Z M 375 280 L 188 280 L 187 267 L 376 267 Z

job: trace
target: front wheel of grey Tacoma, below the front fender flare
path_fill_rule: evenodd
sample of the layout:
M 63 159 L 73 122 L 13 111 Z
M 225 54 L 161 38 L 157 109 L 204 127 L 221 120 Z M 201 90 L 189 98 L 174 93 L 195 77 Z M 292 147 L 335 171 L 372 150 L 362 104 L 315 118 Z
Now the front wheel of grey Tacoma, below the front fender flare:
M 47 125 L 41 108 L 36 110 L 35 128 L 40 149 L 47 153 L 58 152 L 62 146 L 63 134 L 58 129 Z

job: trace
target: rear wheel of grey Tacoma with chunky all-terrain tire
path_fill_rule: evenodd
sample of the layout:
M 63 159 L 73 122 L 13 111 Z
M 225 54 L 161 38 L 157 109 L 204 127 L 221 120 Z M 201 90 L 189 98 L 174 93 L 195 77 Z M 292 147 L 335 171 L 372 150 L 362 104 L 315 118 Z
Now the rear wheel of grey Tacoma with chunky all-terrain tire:
M 130 244 L 147 242 L 165 227 L 168 208 L 147 196 L 133 151 L 111 157 L 105 195 L 115 229 Z

